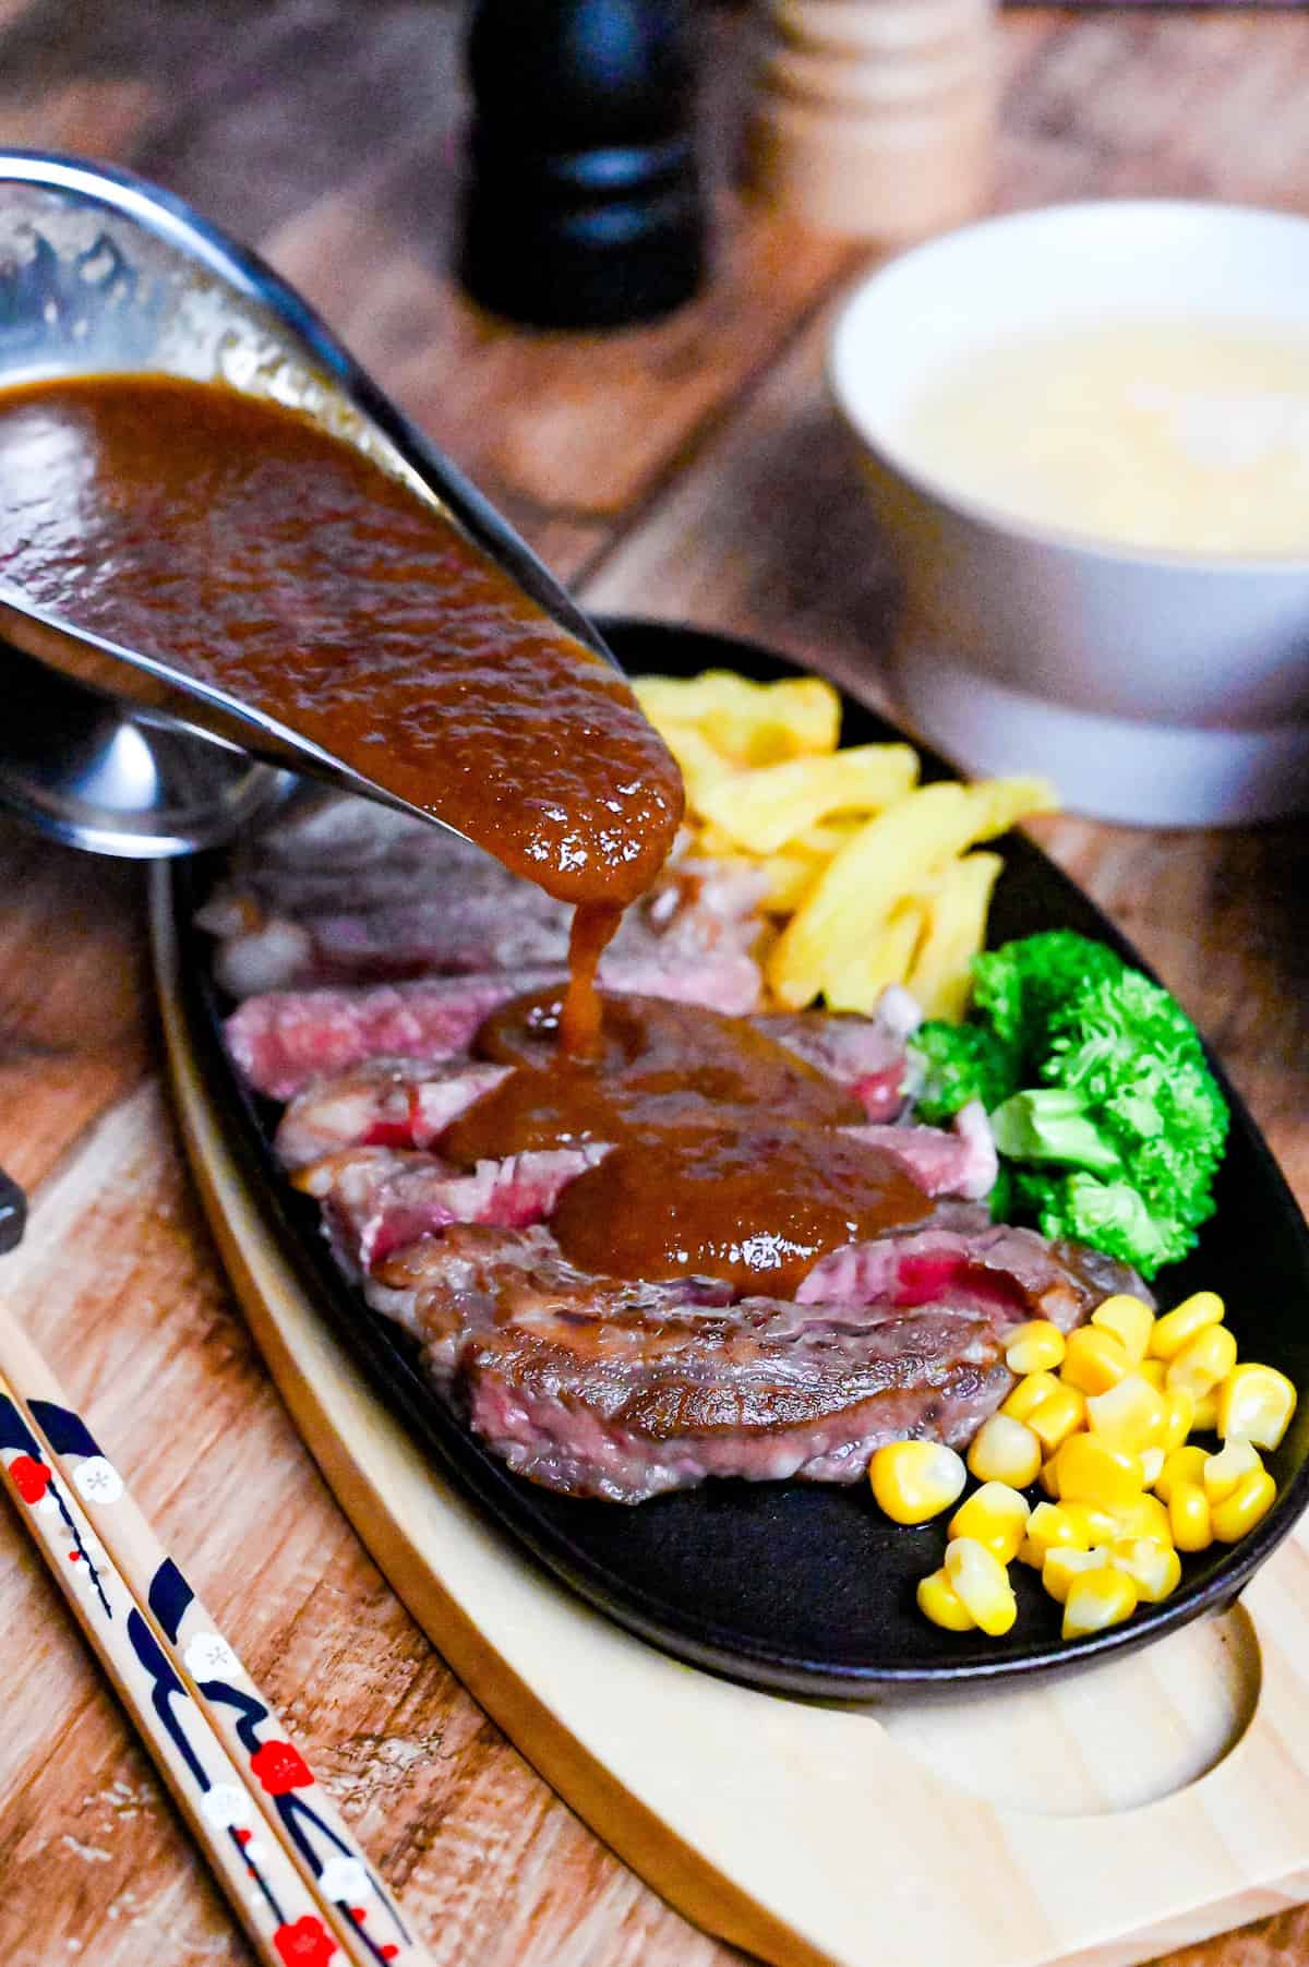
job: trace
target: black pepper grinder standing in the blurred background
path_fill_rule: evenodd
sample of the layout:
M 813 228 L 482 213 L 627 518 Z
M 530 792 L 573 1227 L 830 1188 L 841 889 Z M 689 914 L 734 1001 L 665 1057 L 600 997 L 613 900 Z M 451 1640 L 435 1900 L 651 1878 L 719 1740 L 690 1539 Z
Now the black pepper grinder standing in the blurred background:
M 704 275 L 682 0 L 478 0 L 460 279 L 511 321 L 615 328 Z

